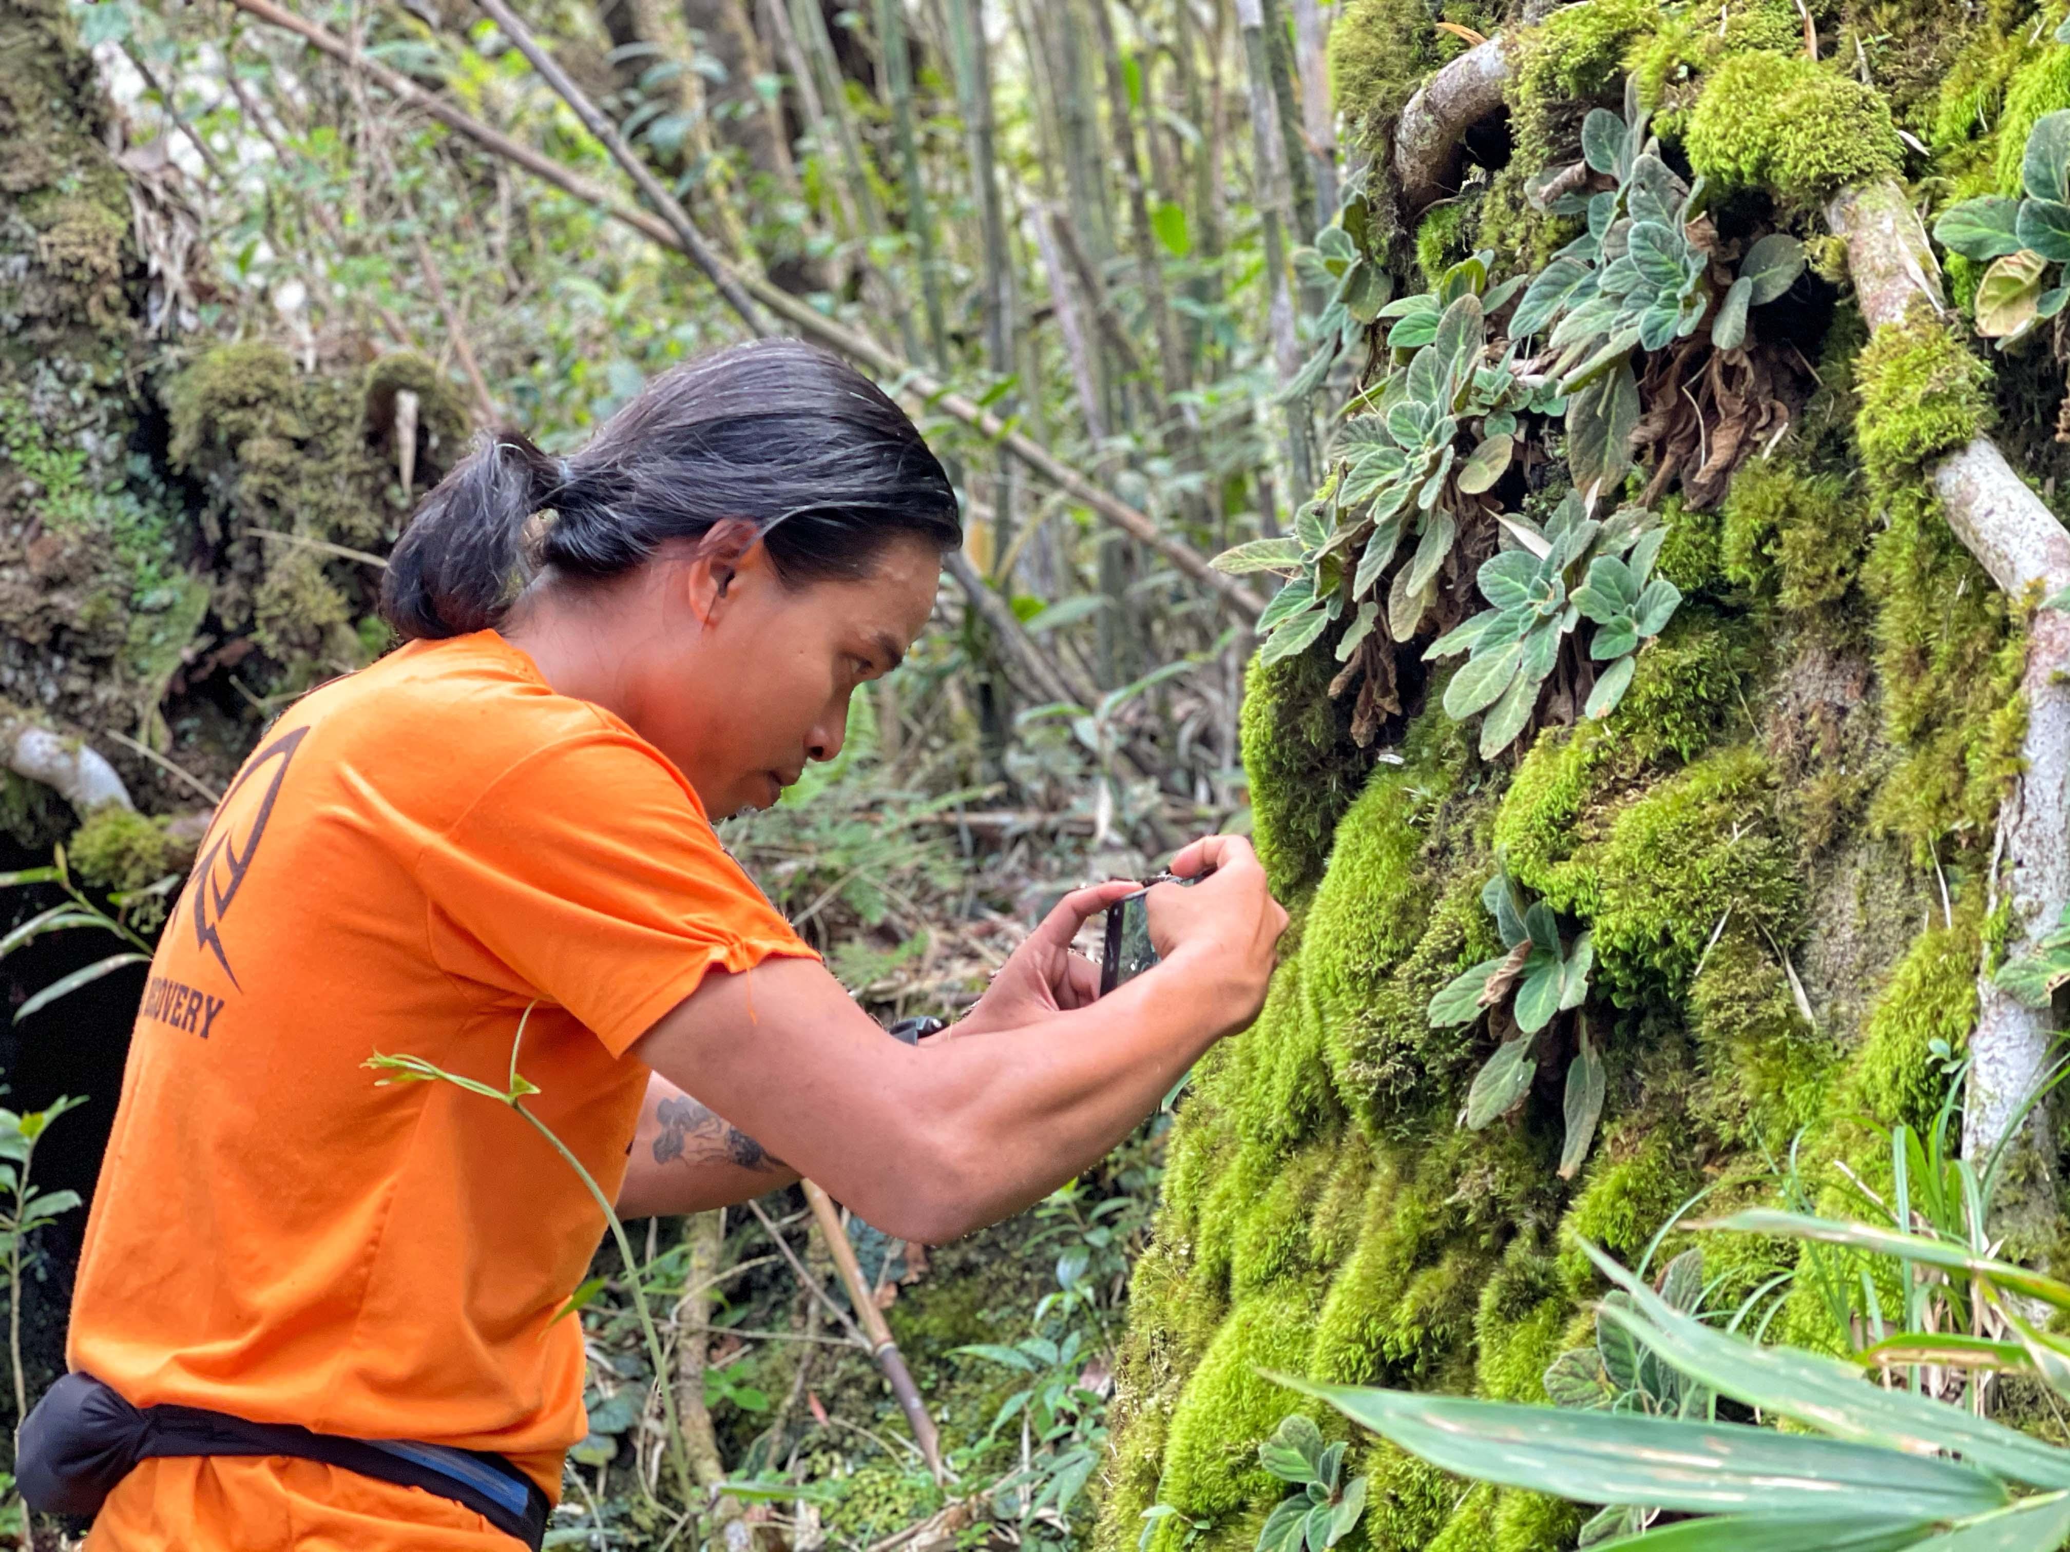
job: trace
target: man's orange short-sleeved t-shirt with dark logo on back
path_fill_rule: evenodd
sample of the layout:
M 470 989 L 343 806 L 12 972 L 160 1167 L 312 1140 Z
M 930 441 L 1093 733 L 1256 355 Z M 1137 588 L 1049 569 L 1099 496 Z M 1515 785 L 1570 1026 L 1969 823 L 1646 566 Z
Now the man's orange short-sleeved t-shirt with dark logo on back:
M 70 1362 L 137 1405 L 501 1451 L 549 1496 L 584 1436 L 553 1320 L 648 1072 L 706 971 L 809 954 L 689 782 L 493 631 L 418 641 L 265 735 L 151 960 L 87 1225 Z

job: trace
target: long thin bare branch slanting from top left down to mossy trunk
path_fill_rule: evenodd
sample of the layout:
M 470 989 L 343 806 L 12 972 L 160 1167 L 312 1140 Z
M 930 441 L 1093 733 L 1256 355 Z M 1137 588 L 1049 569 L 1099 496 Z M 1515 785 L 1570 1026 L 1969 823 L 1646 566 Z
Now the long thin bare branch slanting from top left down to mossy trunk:
M 323 54 L 329 54 L 342 64 L 348 64 L 354 70 L 364 70 L 373 81 L 381 83 L 381 87 L 387 89 L 393 97 L 410 103 L 412 108 L 420 108 L 447 128 L 466 135 L 484 151 L 491 151 L 503 157 L 505 161 L 518 163 L 536 178 L 542 178 L 555 188 L 573 195 L 586 205 L 594 205 L 613 219 L 623 221 L 635 232 L 646 234 L 654 242 L 683 250 L 681 238 L 660 217 L 642 209 L 633 209 L 629 205 L 621 205 L 611 190 L 590 182 L 588 178 L 575 172 L 569 172 L 559 161 L 553 161 L 551 157 L 540 155 L 532 147 L 513 141 L 509 135 L 503 135 L 501 130 L 489 128 L 480 120 L 470 118 L 468 114 L 460 112 L 445 99 L 418 87 L 400 70 L 389 68 L 381 60 L 366 58 L 335 33 L 329 33 L 310 21 L 302 21 L 294 12 L 282 10 L 277 4 L 273 4 L 273 0 L 234 0 L 234 4 L 240 10 L 246 10 L 265 23 L 271 23 L 273 27 L 282 27 L 294 33 L 296 37 L 302 37 L 306 43 L 321 50 Z M 1004 420 L 1000 420 L 989 410 L 983 410 L 963 393 L 952 393 L 944 383 L 915 368 L 911 362 L 900 360 L 884 346 L 876 344 L 874 339 L 867 339 L 865 335 L 857 333 L 855 329 L 849 329 L 847 325 L 836 323 L 834 319 L 828 319 L 824 312 L 814 308 L 803 298 L 791 296 L 789 292 L 768 283 L 766 279 L 749 275 L 743 279 L 743 288 L 756 300 L 760 300 L 770 312 L 776 312 L 787 323 L 797 327 L 801 335 L 818 339 L 830 350 L 838 350 L 842 356 L 861 362 L 871 372 L 886 379 L 890 383 L 892 393 L 917 397 L 923 404 L 942 410 L 952 420 L 960 420 L 979 437 L 985 437 L 994 445 L 1004 447 L 1008 453 L 1012 453 L 1031 470 L 1049 480 L 1049 484 L 1058 486 L 1064 495 L 1083 503 L 1101 519 L 1114 524 L 1122 532 L 1143 540 L 1149 548 L 1157 550 L 1157 555 L 1165 557 L 1188 577 L 1211 588 L 1221 598 L 1232 602 L 1236 608 L 1248 613 L 1252 619 L 1265 608 L 1265 600 L 1259 598 L 1250 588 L 1246 588 L 1236 577 L 1215 571 L 1199 550 L 1165 534 L 1161 528 L 1157 528 L 1155 521 L 1151 521 L 1147 513 L 1141 513 L 1126 501 L 1120 501 L 1107 490 L 1101 490 L 1085 474 L 1070 468 L 1070 464 L 1060 459 L 1056 453 L 1037 443 L 1033 437 L 1008 428 Z

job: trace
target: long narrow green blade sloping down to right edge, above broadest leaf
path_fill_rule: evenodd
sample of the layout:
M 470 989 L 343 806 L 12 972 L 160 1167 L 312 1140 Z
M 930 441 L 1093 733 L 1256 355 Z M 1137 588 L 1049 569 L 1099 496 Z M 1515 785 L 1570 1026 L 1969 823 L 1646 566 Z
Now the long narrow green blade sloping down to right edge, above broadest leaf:
M 1631 1295 L 1629 1306 L 1602 1304 L 1596 1318 L 1629 1333 L 1666 1364 L 1720 1395 L 1809 1424 L 1834 1438 L 1915 1457 L 1950 1451 L 2014 1482 L 2070 1488 L 2070 1451 L 2051 1449 L 2004 1424 L 1913 1391 L 1882 1391 L 1867 1382 L 1859 1366 L 1838 1357 L 1726 1337 L 1685 1316 L 1594 1246 L 1584 1244 L 1581 1250 L 1596 1262 L 1596 1271 Z

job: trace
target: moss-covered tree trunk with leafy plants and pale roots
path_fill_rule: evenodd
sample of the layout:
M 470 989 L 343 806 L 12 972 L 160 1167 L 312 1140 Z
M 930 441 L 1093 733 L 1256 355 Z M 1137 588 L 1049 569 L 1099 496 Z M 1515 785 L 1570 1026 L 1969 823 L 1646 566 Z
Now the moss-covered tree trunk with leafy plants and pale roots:
M 1677 1215 L 1791 1204 L 1884 1221 L 1892 1128 L 1931 1132 L 1950 1095 L 1966 1101 L 1973 1163 L 2012 1138 L 1995 1231 L 2016 1254 L 2062 1254 L 2056 1126 L 2047 1107 L 2014 1124 L 2053 1018 L 2002 993 L 1995 971 L 2070 892 L 2064 627 L 2035 613 L 2070 557 L 2056 441 L 2070 348 L 2047 327 L 2008 352 L 1977 339 L 1983 265 L 1921 226 L 1962 197 L 2020 192 L 2029 128 L 2070 108 L 2060 12 L 1581 0 L 1441 17 L 1492 37 L 1432 41 L 1428 8 L 1406 0 L 1354 0 L 1331 35 L 1339 112 L 1372 155 L 1346 226 L 1397 296 L 1435 296 L 1422 333 L 1408 304 L 1374 323 L 1370 397 L 1323 472 L 1323 519 L 1352 532 L 1335 546 L 1325 532 L 1323 559 L 1314 542 L 1283 557 L 1296 586 L 1341 590 L 1341 613 L 1252 668 L 1259 846 L 1296 927 L 1259 1024 L 1203 1062 L 1180 1109 L 1120 1376 L 1114 1552 L 1159 1502 L 1178 1511 L 1155 1521 L 1172 1548 L 1188 1523 L 1213 1546 L 1254 1544 L 1285 1490 L 1256 1449 L 1298 1409 L 1263 1370 L 1552 1401 L 1544 1374 L 1592 1341 L 1602 1291 L 1577 1237 L 1648 1273 L 1702 1244 L 1718 1318 L 1751 1302 L 1770 1339 L 1846 1349 L 1857 1333 L 1822 1279 L 1853 1285 L 1857 1266 L 1699 1240 Z M 1627 139 L 1631 112 L 1648 122 Z M 1644 157 L 1652 172 L 1633 172 Z M 1807 265 L 1728 302 L 1735 273 L 1793 238 Z M 1530 308 L 1503 279 L 1565 255 L 1596 286 L 1635 250 L 1637 273 L 1577 292 L 1608 296 L 1610 317 L 1664 288 L 1658 331 L 1596 337 L 1594 381 L 1629 370 L 1629 418 L 1592 418 L 1604 389 L 1584 387 L 1577 358 L 1557 362 L 1590 335 L 1563 335 L 1559 306 L 1513 329 L 1511 360 L 1526 377 L 1575 370 L 1565 401 L 1511 414 L 1453 381 L 1443 430 L 1389 418 L 1441 381 L 1443 360 L 1414 364 L 1432 325 L 1470 352 L 1439 323 L 1463 317 L 1447 310 L 1461 294 L 1486 300 L 1474 327 L 1501 341 Z M 1942 269 L 1950 296 L 1933 304 Z M 1486 368 L 1507 370 L 1488 350 Z M 1608 445 L 1592 445 L 1604 424 Z M 1426 435 L 1457 435 L 1459 461 L 1507 435 L 1509 461 L 1461 490 L 1435 449 L 1416 461 Z M 1408 511 L 1455 517 L 1437 540 L 1426 517 L 1389 528 L 1401 459 L 1422 493 Z M 1602 613 L 1559 613 L 1567 575 L 1542 615 L 1544 679 L 1519 691 L 1513 741 L 1497 737 L 1507 697 L 1447 691 L 1468 675 L 1526 683 L 1532 648 L 1430 648 L 1461 621 L 1511 639 L 1503 608 L 1548 594 L 1505 577 L 1552 586 L 1559 561 L 1530 542 L 1552 548 L 1569 486 L 1586 497 L 1598 478 L 1592 517 L 1658 530 L 1631 555 L 1658 544 L 1654 575 L 1679 602 L 1648 627 L 1615 710 L 1588 716 L 1623 648 L 1586 623 L 1608 621 L 1604 594 Z M 1374 534 L 1399 550 L 1362 569 Z M 1418 604 L 1403 577 L 1424 546 Z M 1337 650 L 1348 631 L 1356 652 Z M 1348 708 L 1362 675 L 1401 702 L 1364 749 Z M 1517 939 L 1484 902 L 1497 873 L 1517 908 L 1542 908 L 1507 973 Z M 1515 985 L 1546 962 L 1544 939 L 1577 954 L 1581 931 L 1586 989 L 1526 1014 Z M 1461 973 L 1492 1006 L 1435 1016 Z M 1569 1074 L 1590 1051 L 1602 1113 L 1577 1136 L 1588 1084 Z M 1991 1403 L 2051 1426 L 2018 1386 Z M 1350 1469 L 1370 1473 L 1358 1535 L 1377 1552 L 1563 1548 L 1584 1519 L 1468 1492 L 1370 1440 Z

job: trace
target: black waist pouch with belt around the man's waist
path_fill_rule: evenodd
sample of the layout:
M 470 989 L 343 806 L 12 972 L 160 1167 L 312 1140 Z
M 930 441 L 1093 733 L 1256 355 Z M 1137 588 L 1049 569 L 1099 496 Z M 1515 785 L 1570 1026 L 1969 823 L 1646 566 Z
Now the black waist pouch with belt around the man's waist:
M 203 1407 L 132 1407 L 91 1374 L 66 1374 L 21 1426 L 14 1488 L 46 1515 L 95 1515 L 139 1461 L 164 1455 L 286 1455 L 422 1488 L 538 1550 L 546 1494 L 501 1455 L 404 1438 L 342 1438 Z

